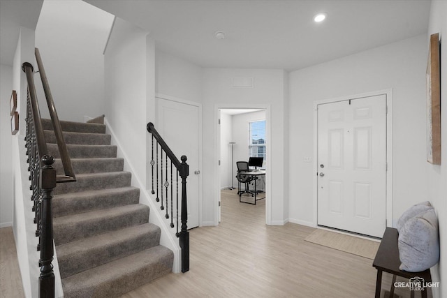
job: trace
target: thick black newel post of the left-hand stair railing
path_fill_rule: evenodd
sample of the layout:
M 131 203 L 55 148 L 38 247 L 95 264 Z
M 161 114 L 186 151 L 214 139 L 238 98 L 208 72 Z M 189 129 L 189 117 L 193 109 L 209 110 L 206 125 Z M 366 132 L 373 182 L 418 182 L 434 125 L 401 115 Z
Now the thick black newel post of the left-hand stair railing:
M 42 158 L 41 170 L 42 205 L 41 205 L 41 276 L 39 276 L 39 297 L 54 297 L 53 251 L 53 216 L 52 191 L 56 187 L 56 170 L 52 166 L 54 157 L 45 155 Z

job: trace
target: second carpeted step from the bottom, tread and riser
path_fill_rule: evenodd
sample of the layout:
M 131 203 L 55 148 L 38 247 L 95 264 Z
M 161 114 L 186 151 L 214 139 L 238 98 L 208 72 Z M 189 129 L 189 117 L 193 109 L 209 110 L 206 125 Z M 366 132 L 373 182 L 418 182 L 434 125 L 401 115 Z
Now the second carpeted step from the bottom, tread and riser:
M 144 223 L 61 244 L 56 248 L 61 277 L 66 278 L 157 246 L 160 244 L 160 233 L 157 225 Z

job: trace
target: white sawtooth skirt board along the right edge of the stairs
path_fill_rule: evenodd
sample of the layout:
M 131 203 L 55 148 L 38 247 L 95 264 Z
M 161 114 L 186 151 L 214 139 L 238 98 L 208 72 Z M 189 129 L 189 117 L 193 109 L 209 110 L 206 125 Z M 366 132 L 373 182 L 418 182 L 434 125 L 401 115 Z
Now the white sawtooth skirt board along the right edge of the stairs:
M 174 232 L 171 231 L 172 229 L 168 227 L 168 223 L 166 223 L 165 218 L 163 218 L 160 212 L 157 211 L 159 208 L 156 207 L 154 198 L 152 198 L 147 192 L 145 184 L 143 184 L 140 177 L 135 174 L 134 167 L 131 163 L 129 163 L 129 157 L 122 149 L 123 147 L 117 139 L 117 135 L 110 126 L 107 118 L 104 118 L 104 124 L 107 130 L 106 133 L 110 134 L 112 137 L 110 144 L 115 144 L 117 146 L 117 157 L 124 158 L 124 170 L 131 172 L 132 174 L 131 185 L 140 188 L 140 204 L 145 204 L 152 210 L 149 215 L 149 222 L 154 223 L 161 228 L 160 244 L 168 247 L 174 253 L 173 272 L 179 273 L 182 267 L 182 250 L 178 244 L 177 237 L 175 237 Z

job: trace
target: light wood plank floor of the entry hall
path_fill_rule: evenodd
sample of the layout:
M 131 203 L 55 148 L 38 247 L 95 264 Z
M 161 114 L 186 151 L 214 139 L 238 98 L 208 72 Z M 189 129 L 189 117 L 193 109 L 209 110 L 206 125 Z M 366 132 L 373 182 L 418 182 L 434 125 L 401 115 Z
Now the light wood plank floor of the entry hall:
M 265 200 L 256 206 L 243 204 L 234 193 L 222 192 L 219 226 L 189 231 L 190 271 L 168 274 L 122 298 L 374 297 L 372 260 L 305 241 L 314 228 L 267 226 Z M 17 278 L 15 283 L 3 281 L 19 271 L 8 260 L 15 254 L 15 246 L 10 248 L 14 241 L 6 245 L 10 238 L 1 232 L 1 297 L 23 297 L 15 289 Z M 3 260 L 8 260 L 6 267 Z M 391 278 L 383 274 L 382 288 L 389 289 Z M 406 289 L 397 289 L 397 294 L 410 297 Z M 428 294 L 431 297 L 430 290 Z

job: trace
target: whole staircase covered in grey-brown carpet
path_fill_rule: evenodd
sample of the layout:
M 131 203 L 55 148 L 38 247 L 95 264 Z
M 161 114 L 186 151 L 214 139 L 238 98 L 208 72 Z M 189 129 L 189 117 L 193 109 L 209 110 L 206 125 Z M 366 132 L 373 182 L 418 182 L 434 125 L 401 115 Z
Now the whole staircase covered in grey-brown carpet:
M 99 120 L 98 120 L 99 119 Z M 102 122 L 99 117 L 93 122 Z M 51 121 L 43 119 L 49 154 L 63 174 Z M 102 123 L 61 121 L 78 181 L 54 190 L 54 243 L 64 297 L 119 297 L 168 274 L 173 252 L 110 145 Z

